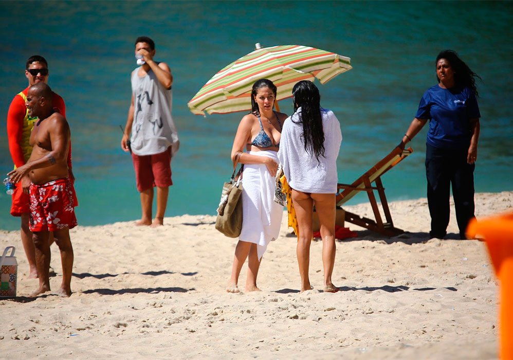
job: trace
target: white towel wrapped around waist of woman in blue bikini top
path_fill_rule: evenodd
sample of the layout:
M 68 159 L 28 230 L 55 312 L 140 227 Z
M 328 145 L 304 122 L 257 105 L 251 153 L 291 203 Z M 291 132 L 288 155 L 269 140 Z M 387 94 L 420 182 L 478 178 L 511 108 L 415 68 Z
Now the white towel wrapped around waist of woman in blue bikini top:
M 278 163 L 276 151 L 249 151 L 248 154 L 271 157 Z M 257 244 L 260 260 L 269 242 L 278 238 L 283 207 L 273 201 L 274 177 L 265 165 L 245 164 L 242 186 L 242 230 L 239 240 Z

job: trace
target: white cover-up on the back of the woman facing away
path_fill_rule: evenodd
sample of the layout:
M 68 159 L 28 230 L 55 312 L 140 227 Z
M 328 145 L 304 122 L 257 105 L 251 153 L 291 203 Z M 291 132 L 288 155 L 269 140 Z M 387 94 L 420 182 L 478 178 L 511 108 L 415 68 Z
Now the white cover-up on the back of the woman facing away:
M 333 111 L 321 109 L 324 156 L 319 155 L 317 160 L 312 151 L 305 151 L 299 114 L 301 107 L 285 120 L 280 139 L 278 158 L 287 182 L 292 189 L 302 192 L 336 193 L 337 156 L 342 141 L 340 123 Z

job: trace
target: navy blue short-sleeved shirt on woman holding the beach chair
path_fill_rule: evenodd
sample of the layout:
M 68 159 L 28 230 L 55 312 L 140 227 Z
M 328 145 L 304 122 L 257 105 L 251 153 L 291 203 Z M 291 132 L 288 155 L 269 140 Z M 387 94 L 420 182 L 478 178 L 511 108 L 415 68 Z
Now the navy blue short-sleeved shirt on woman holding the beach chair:
M 429 119 L 427 143 L 447 150 L 468 148 L 472 137 L 470 119 L 480 118 L 474 92 L 463 86 L 427 89 L 418 105 L 417 119 Z

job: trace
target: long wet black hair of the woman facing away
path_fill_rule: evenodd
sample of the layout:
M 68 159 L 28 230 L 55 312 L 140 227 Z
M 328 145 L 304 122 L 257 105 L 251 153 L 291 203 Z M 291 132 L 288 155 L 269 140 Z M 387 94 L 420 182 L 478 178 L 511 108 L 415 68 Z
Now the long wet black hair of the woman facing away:
M 301 107 L 299 120 L 295 123 L 303 124 L 303 139 L 305 151 L 314 155 L 319 161 L 319 156 L 324 157 L 324 131 L 322 130 L 321 96 L 319 89 L 312 81 L 301 80 L 292 88 L 292 101 L 294 112 Z

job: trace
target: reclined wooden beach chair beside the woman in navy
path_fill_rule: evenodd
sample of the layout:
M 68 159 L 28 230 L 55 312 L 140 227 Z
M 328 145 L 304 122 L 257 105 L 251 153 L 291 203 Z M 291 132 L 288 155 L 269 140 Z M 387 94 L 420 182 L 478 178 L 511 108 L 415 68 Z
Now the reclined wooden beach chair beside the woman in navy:
M 353 223 L 388 237 L 397 236 L 404 232 L 403 230 L 394 227 L 394 223 L 392 222 L 392 215 L 390 214 L 390 210 L 388 208 L 387 197 L 385 196 L 383 184 L 381 182 L 381 175 L 399 164 L 402 159 L 406 158 L 412 152 L 412 148 L 401 150 L 400 148 L 396 147 L 390 154 L 378 161 L 378 163 L 374 165 L 369 171 L 360 176 L 353 184 L 338 184 L 338 190 L 343 191 L 337 194 L 337 206 L 343 205 L 360 191 L 365 191 L 369 196 L 372 211 L 374 212 L 375 220 L 372 220 L 360 217 L 359 215 L 356 215 L 352 212 L 345 211 L 346 222 Z M 373 183 L 375 186 L 373 186 Z M 379 199 L 381 201 L 381 206 L 383 209 L 383 214 L 386 218 L 386 222 L 383 222 L 381 219 L 376 197 L 374 196 L 374 190 L 376 190 L 379 194 Z

